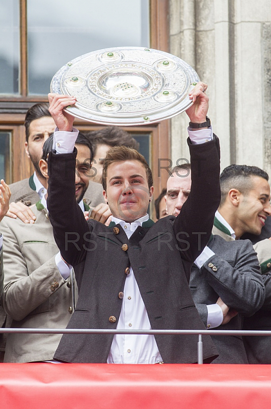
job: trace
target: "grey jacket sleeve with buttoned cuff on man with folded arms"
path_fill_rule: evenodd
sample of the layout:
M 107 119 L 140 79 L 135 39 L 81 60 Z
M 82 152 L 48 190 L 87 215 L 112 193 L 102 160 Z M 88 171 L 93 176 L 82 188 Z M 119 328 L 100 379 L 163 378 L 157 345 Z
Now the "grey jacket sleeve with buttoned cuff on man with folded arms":
M 225 304 L 250 316 L 261 308 L 265 298 L 259 262 L 249 240 L 230 243 L 239 246 L 235 260 L 228 262 L 215 254 L 203 264 L 201 272 Z

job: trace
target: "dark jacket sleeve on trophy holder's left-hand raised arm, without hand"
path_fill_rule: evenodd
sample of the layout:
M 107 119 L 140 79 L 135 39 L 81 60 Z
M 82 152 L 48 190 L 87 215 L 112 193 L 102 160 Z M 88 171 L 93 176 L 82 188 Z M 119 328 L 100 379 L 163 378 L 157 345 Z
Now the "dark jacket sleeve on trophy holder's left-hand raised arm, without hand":
M 47 160 L 49 219 L 61 255 L 72 266 L 84 261 L 91 240 L 91 224 L 75 198 L 76 153 L 76 148 L 73 153 L 50 152 Z

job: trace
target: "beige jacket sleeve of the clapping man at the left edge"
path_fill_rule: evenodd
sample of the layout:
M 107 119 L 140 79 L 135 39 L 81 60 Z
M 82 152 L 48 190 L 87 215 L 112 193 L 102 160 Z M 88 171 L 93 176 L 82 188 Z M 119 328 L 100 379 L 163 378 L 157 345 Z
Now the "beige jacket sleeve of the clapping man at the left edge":
M 42 312 L 42 303 L 58 291 L 65 280 L 57 268 L 55 256 L 30 274 L 16 232 L 12 228 L 12 225 L 17 222 L 19 220 L 10 219 L 10 221 L 2 220 L 1 223 L 5 247 L 2 304 L 5 312 L 13 320 L 19 321 L 40 306 L 39 312 Z M 36 246 L 35 243 L 33 245 Z M 51 286 L 55 283 L 58 283 L 58 286 L 55 286 L 52 291 Z

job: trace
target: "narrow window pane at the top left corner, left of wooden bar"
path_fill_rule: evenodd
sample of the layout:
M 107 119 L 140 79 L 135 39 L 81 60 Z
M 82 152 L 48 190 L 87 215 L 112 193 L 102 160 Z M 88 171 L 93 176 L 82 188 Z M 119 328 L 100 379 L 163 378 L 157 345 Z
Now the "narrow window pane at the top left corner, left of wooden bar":
M 0 94 L 19 92 L 19 0 L 0 0 Z

